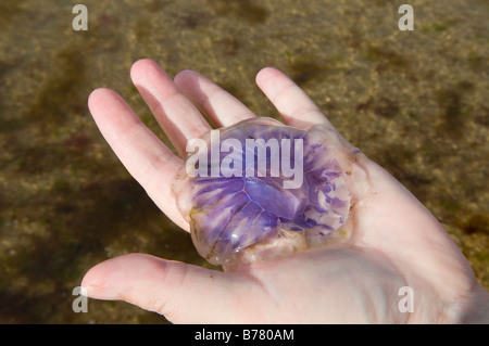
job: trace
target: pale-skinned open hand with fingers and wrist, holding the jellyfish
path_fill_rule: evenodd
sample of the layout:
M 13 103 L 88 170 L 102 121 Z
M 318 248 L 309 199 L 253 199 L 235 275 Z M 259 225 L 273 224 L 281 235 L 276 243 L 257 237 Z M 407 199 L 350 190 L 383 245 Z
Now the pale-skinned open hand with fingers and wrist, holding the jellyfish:
M 114 91 L 95 90 L 90 112 L 130 175 L 189 231 L 171 183 L 184 165 L 187 141 L 211 130 L 198 107 L 220 127 L 256 115 L 192 71 L 172 79 L 153 61 L 140 60 L 130 76 L 179 156 Z M 285 124 L 323 125 L 337 133 L 281 72 L 264 68 L 256 84 Z M 352 236 L 341 245 L 224 271 L 129 254 L 91 268 L 82 286 L 89 297 L 122 299 L 174 323 L 489 322 L 489 293 L 438 220 L 377 164 L 363 154 L 356 159 Z M 413 289 L 413 312 L 398 307 L 403 286 Z

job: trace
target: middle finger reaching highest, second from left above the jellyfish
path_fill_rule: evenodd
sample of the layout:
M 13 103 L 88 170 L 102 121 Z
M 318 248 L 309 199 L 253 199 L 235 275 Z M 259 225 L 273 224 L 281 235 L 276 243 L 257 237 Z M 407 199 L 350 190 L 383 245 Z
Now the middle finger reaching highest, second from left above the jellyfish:
M 172 78 L 152 60 L 137 61 L 130 77 L 163 131 L 180 155 L 187 141 L 211 130 L 196 106 L 178 91 Z

